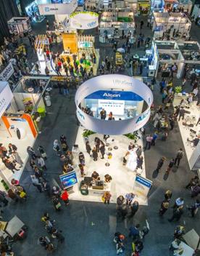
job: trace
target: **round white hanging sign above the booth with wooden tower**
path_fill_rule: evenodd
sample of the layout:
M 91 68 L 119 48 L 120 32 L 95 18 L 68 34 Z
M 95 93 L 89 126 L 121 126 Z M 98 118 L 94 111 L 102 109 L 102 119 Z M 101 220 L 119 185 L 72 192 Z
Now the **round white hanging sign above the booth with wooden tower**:
M 75 29 L 91 29 L 99 25 L 96 12 L 74 12 L 70 15 L 70 25 Z

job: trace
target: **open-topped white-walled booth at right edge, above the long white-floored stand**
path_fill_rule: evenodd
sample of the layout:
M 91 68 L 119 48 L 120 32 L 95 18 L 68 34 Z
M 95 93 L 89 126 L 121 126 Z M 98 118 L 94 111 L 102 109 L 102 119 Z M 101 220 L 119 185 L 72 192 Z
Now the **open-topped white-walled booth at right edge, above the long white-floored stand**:
M 152 62 L 157 72 L 161 73 L 162 77 L 169 77 L 172 65 L 176 64 L 178 70 L 176 71 L 177 78 L 183 76 L 184 68 L 191 70 L 190 73 L 196 73 L 199 77 L 200 65 L 200 45 L 197 41 L 153 41 L 151 47 Z M 193 68 L 194 65 L 196 68 Z

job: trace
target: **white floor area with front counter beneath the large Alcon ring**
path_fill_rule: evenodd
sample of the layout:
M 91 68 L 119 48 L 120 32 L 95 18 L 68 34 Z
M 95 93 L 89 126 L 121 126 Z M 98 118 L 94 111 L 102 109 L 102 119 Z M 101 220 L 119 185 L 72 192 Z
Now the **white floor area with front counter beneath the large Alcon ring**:
M 91 145 L 91 148 L 95 145 L 94 139 L 95 137 L 99 137 L 106 146 L 106 154 L 104 159 L 101 159 L 101 153 L 99 152 L 99 157 L 97 161 L 93 161 L 93 158 L 89 156 L 86 152 L 86 140 L 83 137 L 84 128 L 78 128 L 78 134 L 75 140 L 75 145 L 78 145 L 78 149 L 73 151 L 73 167 L 76 172 L 76 176 L 78 178 L 78 183 L 73 185 L 73 193 L 70 193 L 71 200 L 80 200 L 80 201 L 97 201 L 101 202 L 101 196 L 104 195 L 106 191 L 109 191 L 112 194 L 111 203 L 116 203 L 117 197 L 122 195 L 125 197 L 126 193 L 133 192 L 134 183 L 136 180 L 136 175 L 139 173 L 141 177 L 146 177 L 145 171 L 145 163 L 143 161 L 143 169 L 136 169 L 136 157 L 133 157 L 136 153 L 136 149 L 130 151 L 130 154 L 133 156 L 129 157 L 128 163 L 123 165 L 122 158 L 128 152 L 128 145 L 130 142 L 134 143 L 134 140 L 130 140 L 128 137 L 124 135 L 117 135 L 117 136 L 110 136 L 109 143 L 106 142 L 103 138 L 103 135 L 93 134 L 88 136 L 88 141 Z M 141 137 L 136 142 L 136 146 L 141 145 L 143 148 L 143 140 L 142 135 L 139 132 L 139 136 Z M 117 145 L 117 149 L 114 149 Z M 112 149 L 112 150 L 111 150 Z M 86 159 L 86 166 L 84 167 L 85 175 L 81 177 L 80 169 L 78 167 L 79 160 L 78 155 L 80 152 L 84 153 Z M 107 154 L 111 153 L 112 158 L 107 160 Z M 144 155 L 142 153 L 143 159 Z M 109 161 L 109 166 L 105 164 Z M 99 174 L 100 180 L 98 184 L 91 182 L 91 175 L 93 171 L 96 171 Z M 109 174 L 112 177 L 110 182 L 105 182 L 105 175 Z M 147 205 L 148 200 L 146 197 L 142 196 L 141 194 L 137 194 L 135 191 L 135 199 L 139 202 L 140 205 Z

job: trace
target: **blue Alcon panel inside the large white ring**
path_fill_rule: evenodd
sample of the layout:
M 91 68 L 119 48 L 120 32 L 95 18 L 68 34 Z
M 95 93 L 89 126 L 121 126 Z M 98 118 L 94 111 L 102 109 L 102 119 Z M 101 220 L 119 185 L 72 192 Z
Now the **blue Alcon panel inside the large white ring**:
M 123 92 L 123 91 L 97 91 L 88 95 L 86 99 L 93 100 L 133 100 L 141 101 L 143 98 L 134 92 Z

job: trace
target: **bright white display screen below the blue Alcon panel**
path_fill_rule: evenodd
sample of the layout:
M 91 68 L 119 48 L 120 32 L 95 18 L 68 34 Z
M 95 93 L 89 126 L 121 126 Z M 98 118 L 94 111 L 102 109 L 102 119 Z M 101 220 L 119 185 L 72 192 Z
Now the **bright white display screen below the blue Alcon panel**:
M 124 114 L 125 100 L 98 100 L 98 103 L 99 108 L 104 108 L 104 110 L 107 111 L 107 114 L 109 114 L 109 112 L 119 116 Z

